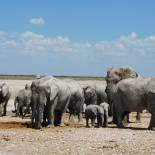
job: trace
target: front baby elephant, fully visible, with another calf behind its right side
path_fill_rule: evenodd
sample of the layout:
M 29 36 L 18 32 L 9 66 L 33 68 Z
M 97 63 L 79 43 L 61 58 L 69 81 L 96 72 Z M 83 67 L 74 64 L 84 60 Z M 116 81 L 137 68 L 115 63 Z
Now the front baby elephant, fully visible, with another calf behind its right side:
M 86 127 L 89 127 L 89 119 L 91 120 L 91 126 L 95 127 L 95 120 L 97 118 L 97 127 L 103 126 L 104 110 L 99 105 L 88 105 L 85 110 Z

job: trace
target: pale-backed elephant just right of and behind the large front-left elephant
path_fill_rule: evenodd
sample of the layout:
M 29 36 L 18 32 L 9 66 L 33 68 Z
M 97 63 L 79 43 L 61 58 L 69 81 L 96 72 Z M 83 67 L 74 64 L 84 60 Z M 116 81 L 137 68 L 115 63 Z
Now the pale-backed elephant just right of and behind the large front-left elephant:
M 78 121 L 82 121 L 82 112 L 84 106 L 84 92 L 80 84 L 74 80 L 65 80 L 71 92 L 71 99 L 68 105 L 69 121 L 72 115 L 78 115 Z

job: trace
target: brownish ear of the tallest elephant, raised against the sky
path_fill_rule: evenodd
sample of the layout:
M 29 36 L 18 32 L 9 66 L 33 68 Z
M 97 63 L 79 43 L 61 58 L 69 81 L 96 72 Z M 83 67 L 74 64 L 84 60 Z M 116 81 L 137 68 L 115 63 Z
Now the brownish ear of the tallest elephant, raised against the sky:
M 120 68 L 121 80 L 128 78 L 137 78 L 138 74 L 131 67 Z

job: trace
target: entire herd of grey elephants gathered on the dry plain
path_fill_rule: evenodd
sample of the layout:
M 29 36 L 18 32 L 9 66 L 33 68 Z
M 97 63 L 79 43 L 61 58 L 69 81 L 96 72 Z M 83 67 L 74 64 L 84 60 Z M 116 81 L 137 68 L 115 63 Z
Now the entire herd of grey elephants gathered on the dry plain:
M 106 84 L 80 84 L 74 80 L 60 80 L 45 76 L 26 85 L 14 100 L 16 116 L 31 114 L 31 127 L 54 127 L 64 125 L 64 114 L 69 112 L 82 121 L 85 114 L 86 126 L 107 127 L 108 117 L 119 128 L 129 113 L 147 110 L 151 113 L 148 129 L 155 127 L 155 78 L 142 78 L 131 67 L 109 68 Z M 6 115 L 7 102 L 11 94 L 6 83 L 0 83 L 0 115 Z M 84 106 L 86 105 L 86 106 Z

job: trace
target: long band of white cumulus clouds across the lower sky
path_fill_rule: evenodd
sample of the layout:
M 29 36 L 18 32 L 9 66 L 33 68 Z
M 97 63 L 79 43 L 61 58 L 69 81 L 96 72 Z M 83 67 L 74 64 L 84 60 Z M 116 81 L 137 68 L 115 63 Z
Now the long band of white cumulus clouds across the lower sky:
M 155 54 L 155 36 L 139 37 L 132 32 L 127 36 L 120 36 L 111 41 L 96 43 L 77 43 L 66 36 L 44 36 L 34 32 L 9 34 L 0 32 L 0 52 L 20 52 L 27 54 L 70 53 L 125 56 L 125 55 L 152 55 Z

